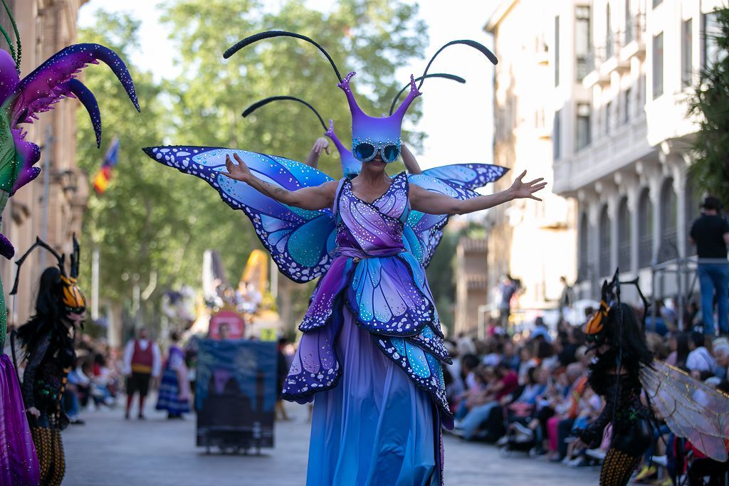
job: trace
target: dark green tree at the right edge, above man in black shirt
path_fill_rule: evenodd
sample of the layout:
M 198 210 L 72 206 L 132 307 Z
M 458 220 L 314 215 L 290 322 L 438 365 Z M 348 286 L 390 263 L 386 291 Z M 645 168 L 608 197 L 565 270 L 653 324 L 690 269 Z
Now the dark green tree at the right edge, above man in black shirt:
M 714 11 L 720 28 L 715 42 L 720 57 L 706 63 L 695 87 L 690 112 L 698 115 L 700 128 L 693 144 L 693 180 L 700 189 L 729 205 L 729 9 Z

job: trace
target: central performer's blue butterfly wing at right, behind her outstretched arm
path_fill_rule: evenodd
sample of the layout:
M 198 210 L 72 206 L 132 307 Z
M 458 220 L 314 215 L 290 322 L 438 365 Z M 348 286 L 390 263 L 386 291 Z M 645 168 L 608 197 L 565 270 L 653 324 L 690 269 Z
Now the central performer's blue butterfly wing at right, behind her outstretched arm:
M 424 189 L 448 197 L 466 200 L 477 197 L 478 194 L 467 187 L 449 184 L 442 179 L 428 176 L 425 173 L 409 176 L 410 184 L 416 184 Z M 408 222 L 403 230 L 405 246 L 421 264 L 426 267 L 435 252 L 435 248 L 443 238 L 443 228 L 448 223 L 447 214 L 426 214 L 420 211 L 410 211 Z

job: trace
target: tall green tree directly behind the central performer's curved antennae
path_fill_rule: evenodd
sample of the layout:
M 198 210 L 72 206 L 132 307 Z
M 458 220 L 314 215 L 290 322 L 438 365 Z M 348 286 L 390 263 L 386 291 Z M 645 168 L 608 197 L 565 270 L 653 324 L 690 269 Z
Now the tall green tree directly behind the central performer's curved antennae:
M 276 12 L 257 1 L 182 0 L 170 4 L 162 20 L 171 26 L 179 50 L 176 62 L 182 74 L 171 91 L 176 125 L 174 143 L 229 146 L 303 160 L 323 130 L 305 107 L 276 103 L 243 119 L 246 106 L 271 95 L 303 98 L 326 118 L 335 120 L 347 144 L 350 116 L 338 79 L 316 47 L 296 39 L 271 39 L 254 44 L 223 60 L 227 47 L 250 34 L 276 29 L 310 36 L 330 52 L 340 71 L 359 69 L 352 83 L 364 111 L 386 112 L 395 93 L 408 79 L 395 79 L 396 68 L 421 55 L 426 36 L 416 19 L 416 7 L 399 2 L 346 0 L 335 11 L 322 13 L 288 1 Z M 350 28 L 350 26 L 353 26 Z M 411 117 L 418 117 L 416 110 Z M 416 134 L 411 139 L 419 140 Z M 333 149 L 333 147 L 332 147 Z M 335 151 L 332 152 L 335 154 Z M 322 157 L 320 168 L 334 177 L 341 174 L 338 158 Z M 395 170 L 402 170 L 402 164 Z M 244 216 L 222 208 L 204 181 L 195 181 L 201 194 L 200 212 L 217 214 L 206 219 L 207 241 L 191 241 L 221 251 L 232 275 L 230 259 L 259 245 Z M 204 209 L 203 209 L 204 208 Z M 241 227 L 243 224 L 243 227 Z M 201 254 L 204 248 L 195 249 Z M 238 261 L 238 265 L 240 262 Z M 240 270 L 238 270 L 240 271 Z M 300 291 L 299 291 L 300 290 Z M 291 291 L 286 286 L 286 291 Z M 292 318 L 305 308 L 311 285 L 295 292 Z M 289 324 L 292 324 L 289 322 Z

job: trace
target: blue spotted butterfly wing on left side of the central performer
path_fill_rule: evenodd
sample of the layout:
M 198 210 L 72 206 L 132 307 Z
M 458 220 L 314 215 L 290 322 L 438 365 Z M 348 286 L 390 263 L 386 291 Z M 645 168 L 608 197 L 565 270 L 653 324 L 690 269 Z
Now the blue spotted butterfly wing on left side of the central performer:
M 257 177 L 289 190 L 331 181 L 326 174 L 284 157 L 237 149 L 160 146 L 147 147 L 144 152 L 157 162 L 207 181 L 227 205 L 246 213 L 278 270 L 293 281 L 311 281 L 329 267 L 335 246 L 332 211 L 307 211 L 278 203 L 222 172 L 225 156 L 235 153 Z

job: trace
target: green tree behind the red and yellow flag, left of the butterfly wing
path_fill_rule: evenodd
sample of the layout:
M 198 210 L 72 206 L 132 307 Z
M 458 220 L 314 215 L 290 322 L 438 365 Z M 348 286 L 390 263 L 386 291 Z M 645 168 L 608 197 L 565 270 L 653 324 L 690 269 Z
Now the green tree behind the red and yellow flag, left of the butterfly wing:
M 192 184 L 149 163 L 141 152 L 142 146 L 159 144 L 169 130 L 162 88 L 152 74 L 129 64 L 130 52 L 139 49 L 138 31 L 138 20 L 101 12 L 93 28 L 79 32 L 82 42 L 104 44 L 126 60 L 141 106 L 141 114 L 136 113 L 106 66 L 85 70 L 84 82 L 96 93 L 100 105 L 104 140 L 101 150 L 97 149 L 87 114 L 79 110 L 79 167 L 92 179 L 114 136 L 120 140 L 120 154 L 109 189 L 103 195 L 92 193 L 88 201 L 82 235 L 87 256 L 82 259 L 82 272 L 90 282 L 90 253 L 97 246 L 101 297 L 117 303 L 130 300 L 135 282 L 152 290 L 154 275 L 165 284 L 187 281 L 194 275 L 190 258 L 186 258 L 195 222 L 195 213 L 190 211 Z M 199 275 L 199 267 L 194 270 Z M 150 296 L 149 302 L 154 300 Z

